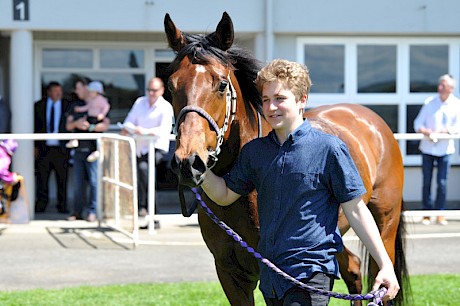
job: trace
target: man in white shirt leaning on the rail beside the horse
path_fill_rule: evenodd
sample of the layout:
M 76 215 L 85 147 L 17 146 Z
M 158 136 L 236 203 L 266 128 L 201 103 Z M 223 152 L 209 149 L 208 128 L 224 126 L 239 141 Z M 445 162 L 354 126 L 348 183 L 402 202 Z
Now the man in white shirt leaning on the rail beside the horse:
M 160 78 L 152 78 L 147 95 L 137 98 L 126 117 L 122 135 L 137 134 L 158 136 L 155 141 L 155 162 L 158 165 L 169 151 L 169 135 L 174 112 L 171 104 L 163 98 L 164 84 Z M 148 214 L 148 140 L 138 140 L 137 185 L 139 216 Z M 158 224 L 158 223 L 157 223 Z

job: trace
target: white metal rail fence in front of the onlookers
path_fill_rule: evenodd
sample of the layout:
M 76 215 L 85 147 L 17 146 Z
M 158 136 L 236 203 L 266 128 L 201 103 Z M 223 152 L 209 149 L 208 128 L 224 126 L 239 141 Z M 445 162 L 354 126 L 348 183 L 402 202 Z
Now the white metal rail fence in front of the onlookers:
M 419 133 L 396 133 L 397 140 L 420 140 L 425 136 Z M 61 134 L 0 134 L 0 139 L 16 140 L 97 140 L 102 151 L 98 169 L 98 220 L 127 233 L 138 241 L 139 220 L 137 215 L 137 167 L 136 167 L 136 139 L 150 140 L 150 152 L 155 152 L 155 136 L 136 136 L 134 138 L 120 136 L 114 133 L 61 133 Z M 170 136 L 175 139 L 174 135 Z M 433 134 L 432 139 L 460 139 L 460 134 Z M 120 158 L 122 153 L 123 158 Z M 129 166 L 129 167 L 128 167 Z M 128 167 L 128 168 L 127 168 Z M 149 233 L 155 233 L 155 156 L 149 155 L 149 216 L 147 217 Z M 108 187 L 111 186 L 111 187 Z M 33 203 L 34 201 L 31 201 Z M 126 204 L 128 203 L 128 204 Z M 33 204 L 32 204 L 33 205 Z M 127 207 L 130 208 L 127 208 Z M 129 212 L 129 214 L 127 214 Z M 127 217 L 130 215 L 130 217 Z M 460 217 L 460 210 L 444 211 L 405 211 L 406 218 L 443 215 L 448 218 Z

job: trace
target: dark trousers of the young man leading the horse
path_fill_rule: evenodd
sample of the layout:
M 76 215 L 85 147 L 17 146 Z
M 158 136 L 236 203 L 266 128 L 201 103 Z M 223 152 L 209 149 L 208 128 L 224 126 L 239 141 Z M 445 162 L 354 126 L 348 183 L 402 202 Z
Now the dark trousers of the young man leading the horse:
M 315 273 L 310 279 L 301 281 L 317 289 L 330 291 L 334 287 L 334 278 L 324 273 Z M 329 304 L 329 297 L 311 294 L 297 286 L 289 289 L 282 299 L 266 297 L 264 299 L 267 306 L 326 306 Z

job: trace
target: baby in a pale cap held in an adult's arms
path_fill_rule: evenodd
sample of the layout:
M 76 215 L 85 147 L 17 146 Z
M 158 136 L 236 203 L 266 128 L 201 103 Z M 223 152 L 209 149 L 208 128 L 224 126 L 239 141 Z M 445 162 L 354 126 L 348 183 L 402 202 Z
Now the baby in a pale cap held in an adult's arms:
M 110 110 L 110 104 L 107 98 L 104 96 L 104 86 L 101 82 L 93 81 L 88 84 L 88 98 L 85 105 L 76 106 L 74 111 L 77 113 L 87 113 L 88 118 L 92 118 L 93 124 L 104 120 L 105 116 Z M 90 122 L 91 123 L 91 122 Z M 90 126 L 91 128 L 91 126 Z M 66 144 L 67 148 L 78 147 L 78 140 L 72 139 Z M 88 155 L 87 160 L 89 162 L 95 162 L 99 157 L 98 151 L 91 152 Z

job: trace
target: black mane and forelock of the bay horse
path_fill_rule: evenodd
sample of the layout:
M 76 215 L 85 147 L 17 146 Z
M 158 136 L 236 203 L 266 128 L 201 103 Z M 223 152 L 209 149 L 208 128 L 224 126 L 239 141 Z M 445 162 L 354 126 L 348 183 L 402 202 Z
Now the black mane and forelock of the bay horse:
M 212 59 L 217 59 L 228 68 L 234 70 L 245 106 L 247 107 L 247 103 L 249 103 L 257 112 L 263 114 L 262 99 L 255 84 L 257 73 L 262 68 L 262 63 L 259 60 L 249 51 L 235 45 L 227 51 L 221 50 L 214 41 L 214 33 L 211 35 L 182 34 L 186 44 L 177 52 L 176 58 L 168 68 L 168 75 L 171 75 L 173 71 L 179 68 L 180 62 L 186 56 L 191 63 L 203 65 L 209 64 Z M 252 117 L 252 112 L 249 111 L 248 114 Z

